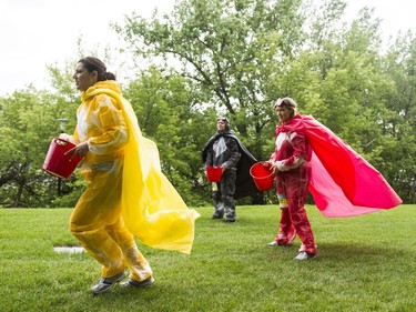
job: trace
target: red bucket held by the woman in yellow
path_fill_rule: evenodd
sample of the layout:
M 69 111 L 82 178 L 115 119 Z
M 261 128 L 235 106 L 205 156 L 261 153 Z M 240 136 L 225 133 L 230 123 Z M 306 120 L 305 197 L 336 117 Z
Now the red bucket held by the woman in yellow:
M 74 144 L 67 140 L 53 138 L 42 169 L 48 173 L 62 179 L 70 178 L 81 161 L 79 155 L 75 155 L 72 160 L 71 155 L 65 155 L 65 152 L 74 147 Z

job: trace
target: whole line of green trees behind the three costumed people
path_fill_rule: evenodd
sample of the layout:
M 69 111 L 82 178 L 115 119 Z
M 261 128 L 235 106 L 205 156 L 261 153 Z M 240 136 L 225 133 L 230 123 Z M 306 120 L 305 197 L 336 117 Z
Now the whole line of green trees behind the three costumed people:
M 229 117 L 248 150 L 266 160 L 277 123 L 272 101 L 292 97 L 359 152 L 406 203 L 416 202 L 416 40 L 386 47 L 381 21 L 364 8 L 339 22 L 341 0 L 182 0 L 170 14 L 113 24 L 124 52 L 149 67 L 122 85 L 162 170 L 189 205 L 210 202 L 201 150 Z M 72 207 L 78 172 L 58 182 L 41 170 L 58 119 L 75 124 L 78 58 L 49 66 L 51 90 L 28 87 L 0 98 L 0 207 Z M 111 62 L 111 59 L 108 61 Z M 241 203 L 270 203 L 263 194 Z

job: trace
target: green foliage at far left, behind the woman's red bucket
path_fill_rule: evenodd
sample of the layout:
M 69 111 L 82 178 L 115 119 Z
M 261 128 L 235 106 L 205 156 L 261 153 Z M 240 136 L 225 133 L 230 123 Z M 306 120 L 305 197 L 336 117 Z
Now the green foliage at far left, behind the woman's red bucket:
M 0 204 L 4 207 L 51 207 L 59 197 L 58 185 L 72 191 L 58 178 L 42 171 L 49 144 L 61 129 L 58 119 L 77 123 L 79 99 L 70 87 L 72 70 L 49 67 L 57 93 L 29 87 L 0 99 Z

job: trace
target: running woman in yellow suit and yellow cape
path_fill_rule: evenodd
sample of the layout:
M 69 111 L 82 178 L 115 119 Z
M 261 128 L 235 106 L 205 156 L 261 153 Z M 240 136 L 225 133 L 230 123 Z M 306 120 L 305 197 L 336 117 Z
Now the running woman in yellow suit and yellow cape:
M 150 285 L 153 273 L 134 235 L 153 248 L 190 253 L 199 214 L 161 173 L 156 145 L 142 137 L 131 104 L 104 63 L 81 59 L 73 78 L 82 103 L 73 135 L 61 137 L 77 144 L 68 153 L 83 158 L 81 174 L 89 182 L 70 230 L 102 264 L 91 291 L 108 291 L 125 278 L 125 266 L 130 279 L 122 285 Z

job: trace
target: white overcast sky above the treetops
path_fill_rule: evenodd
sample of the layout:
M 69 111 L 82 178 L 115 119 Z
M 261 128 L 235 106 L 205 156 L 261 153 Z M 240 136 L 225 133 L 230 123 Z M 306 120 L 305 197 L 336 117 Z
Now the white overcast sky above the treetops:
M 0 0 L 0 95 L 32 83 L 49 85 L 47 66 L 73 59 L 82 36 L 87 50 L 120 46 L 110 22 L 123 24 L 124 16 L 136 11 L 150 17 L 158 7 L 170 12 L 174 0 Z M 375 8 L 383 19 L 384 38 L 412 29 L 416 36 L 415 0 L 347 0 L 346 16 L 355 18 L 361 8 Z M 99 50 L 100 51 L 100 50 Z M 100 57 L 100 56 L 98 56 Z M 110 71 L 116 71 L 109 68 Z

